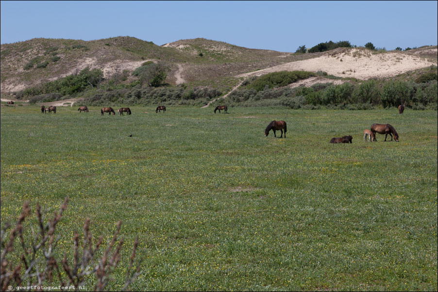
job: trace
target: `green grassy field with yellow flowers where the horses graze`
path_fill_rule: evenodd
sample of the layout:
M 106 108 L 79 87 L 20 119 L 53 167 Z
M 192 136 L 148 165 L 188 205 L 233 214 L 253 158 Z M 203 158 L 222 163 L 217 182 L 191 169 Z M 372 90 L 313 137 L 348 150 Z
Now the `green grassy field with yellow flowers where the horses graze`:
M 26 200 L 53 213 L 68 196 L 71 254 L 85 217 L 106 241 L 122 220 L 109 289 L 138 235 L 132 290 L 437 291 L 437 112 L 131 109 L 2 107 L 1 226 Z M 286 139 L 263 136 L 274 119 Z M 400 142 L 364 143 L 373 123 Z

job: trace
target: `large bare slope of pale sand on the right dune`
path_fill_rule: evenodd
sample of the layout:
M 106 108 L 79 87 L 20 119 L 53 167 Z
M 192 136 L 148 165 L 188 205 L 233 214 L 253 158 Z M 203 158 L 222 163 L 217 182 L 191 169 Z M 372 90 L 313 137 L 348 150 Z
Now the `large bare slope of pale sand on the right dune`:
M 435 49 L 437 50 L 437 49 Z M 410 70 L 424 68 L 436 63 L 402 52 L 372 54 L 363 49 L 336 49 L 314 59 L 277 65 L 274 67 L 238 75 L 237 77 L 260 76 L 278 71 L 325 71 L 338 77 L 354 77 L 360 80 L 395 76 Z

